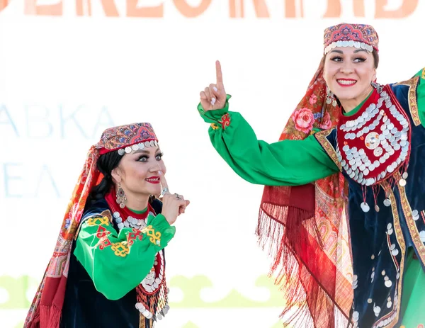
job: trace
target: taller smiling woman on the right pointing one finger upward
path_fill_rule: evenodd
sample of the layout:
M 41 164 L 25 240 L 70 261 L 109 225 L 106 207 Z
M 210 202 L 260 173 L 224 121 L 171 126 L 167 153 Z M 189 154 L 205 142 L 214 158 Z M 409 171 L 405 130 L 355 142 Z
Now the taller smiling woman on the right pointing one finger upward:
M 285 324 L 425 322 L 425 69 L 380 85 L 377 67 L 372 26 L 327 28 L 322 62 L 271 144 L 229 111 L 219 62 L 200 92 L 212 145 L 266 186 L 256 232 L 274 256 Z

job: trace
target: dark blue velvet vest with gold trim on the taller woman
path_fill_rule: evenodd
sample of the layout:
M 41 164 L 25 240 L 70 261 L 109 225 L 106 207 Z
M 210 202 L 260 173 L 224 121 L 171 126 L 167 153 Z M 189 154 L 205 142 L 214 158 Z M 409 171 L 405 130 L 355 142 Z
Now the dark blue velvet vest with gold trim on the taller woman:
M 340 130 L 334 128 L 316 135 L 348 181 L 354 288 L 351 315 L 355 327 L 398 327 L 402 322 L 400 305 L 403 301 L 402 287 L 409 247 L 414 249 L 424 267 L 425 128 L 421 125 L 417 110 L 418 80 L 419 77 L 416 77 L 390 85 L 397 98 L 392 98 L 392 101 L 398 101 L 402 106 L 411 129 L 405 186 L 399 183 L 403 172 L 396 171 L 392 179 L 382 181 L 379 188 L 375 188 L 374 196 L 372 186 L 362 188 L 341 166 L 341 159 L 338 159 L 336 152 L 337 133 L 341 133 Z M 365 111 L 365 108 L 360 111 Z M 370 205 L 367 213 L 361 209 L 364 199 Z M 378 211 L 375 203 L 379 207 Z

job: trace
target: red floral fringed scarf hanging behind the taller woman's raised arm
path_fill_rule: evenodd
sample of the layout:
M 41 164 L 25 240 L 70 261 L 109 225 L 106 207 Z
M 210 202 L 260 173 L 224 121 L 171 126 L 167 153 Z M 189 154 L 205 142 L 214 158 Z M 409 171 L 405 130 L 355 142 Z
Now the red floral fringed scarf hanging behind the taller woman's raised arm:
M 321 63 L 280 140 L 302 140 L 314 129 L 336 126 L 341 108 L 328 105 L 325 95 Z M 273 256 L 270 274 L 284 293 L 285 324 L 346 324 L 353 290 L 344 188 L 342 174 L 305 186 L 264 188 L 256 234 Z

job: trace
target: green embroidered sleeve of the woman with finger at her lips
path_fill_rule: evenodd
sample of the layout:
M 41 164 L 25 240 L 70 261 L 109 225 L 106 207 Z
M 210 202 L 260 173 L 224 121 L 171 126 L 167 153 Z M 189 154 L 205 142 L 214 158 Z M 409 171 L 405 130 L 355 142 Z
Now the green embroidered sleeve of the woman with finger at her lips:
M 123 228 L 119 233 L 108 217 L 95 215 L 81 224 L 74 254 L 96 290 L 118 300 L 142 282 L 175 232 L 161 214 L 149 215 L 140 230 Z

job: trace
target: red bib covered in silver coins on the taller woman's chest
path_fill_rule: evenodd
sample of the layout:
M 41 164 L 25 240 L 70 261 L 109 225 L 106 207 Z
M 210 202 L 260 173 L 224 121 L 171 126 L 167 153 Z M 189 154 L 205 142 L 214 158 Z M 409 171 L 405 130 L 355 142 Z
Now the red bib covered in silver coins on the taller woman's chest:
M 343 118 L 336 132 L 336 157 L 346 175 L 363 186 L 375 186 L 392 176 L 410 151 L 406 113 L 393 103 L 386 86 L 380 88 L 366 108 Z M 407 172 L 402 178 L 399 185 L 405 186 Z

